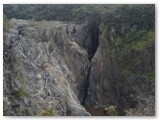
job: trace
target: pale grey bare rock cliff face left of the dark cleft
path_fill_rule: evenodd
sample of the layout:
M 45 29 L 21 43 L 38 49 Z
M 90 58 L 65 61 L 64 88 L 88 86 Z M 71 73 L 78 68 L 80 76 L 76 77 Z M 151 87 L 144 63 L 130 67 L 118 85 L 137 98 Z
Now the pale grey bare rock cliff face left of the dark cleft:
M 92 56 L 88 23 L 11 24 L 4 35 L 4 114 L 90 115 L 80 104 Z

